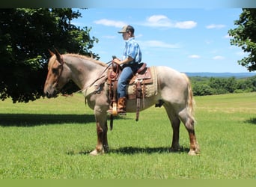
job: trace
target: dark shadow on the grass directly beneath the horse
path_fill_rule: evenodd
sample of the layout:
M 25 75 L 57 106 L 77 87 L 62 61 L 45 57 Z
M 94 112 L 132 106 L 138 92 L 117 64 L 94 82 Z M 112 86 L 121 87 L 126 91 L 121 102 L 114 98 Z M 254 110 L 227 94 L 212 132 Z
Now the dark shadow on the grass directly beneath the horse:
M 80 151 L 78 154 L 87 155 L 90 152 Z M 118 149 L 110 149 L 109 153 L 117 153 L 121 155 L 134 155 L 140 153 L 153 154 L 153 153 L 189 153 L 189 148 L 181 147 L 180 150 L 170 152 L 169 147 L 120 147 Z M 68 152 L 69 155 L 76 155 L 73 151 Z M 106 153 L 108 154 L 108 153 Z

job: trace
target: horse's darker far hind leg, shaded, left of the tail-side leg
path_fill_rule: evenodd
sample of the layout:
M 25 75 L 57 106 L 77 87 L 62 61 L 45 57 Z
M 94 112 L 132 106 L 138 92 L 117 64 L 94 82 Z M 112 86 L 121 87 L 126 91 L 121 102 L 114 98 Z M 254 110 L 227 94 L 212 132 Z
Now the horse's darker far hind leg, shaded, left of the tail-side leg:
M 177 116 L 177 114 L 174 114 L 174 111 L 171 110 L 171 107 L 168 107 L 167 105 L 165 106 L 165 111 L 168 114 L 168 118 L 171 121 L 171 127 L 173 130 L 173 135 L 172 135 L 172 143 L 171 143 L 171 148 L 170 151 L 178 151 L 180 150 L 180 144 L 179 144 L 179 139 L 180 139 L 180 119 Z

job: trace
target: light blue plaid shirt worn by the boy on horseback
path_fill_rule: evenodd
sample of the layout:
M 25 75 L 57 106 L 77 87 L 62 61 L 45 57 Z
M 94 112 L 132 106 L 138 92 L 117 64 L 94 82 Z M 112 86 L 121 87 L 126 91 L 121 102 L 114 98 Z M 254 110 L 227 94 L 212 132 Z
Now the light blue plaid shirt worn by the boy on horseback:
M 125 43 L 123 60 L 128 57 L 133 58 L 133 61 L 130 61 L 129 64 L 141 62 L 141 49 L 139 48 L 138 43 L 135 41 L 134 37 L 129 38 Z

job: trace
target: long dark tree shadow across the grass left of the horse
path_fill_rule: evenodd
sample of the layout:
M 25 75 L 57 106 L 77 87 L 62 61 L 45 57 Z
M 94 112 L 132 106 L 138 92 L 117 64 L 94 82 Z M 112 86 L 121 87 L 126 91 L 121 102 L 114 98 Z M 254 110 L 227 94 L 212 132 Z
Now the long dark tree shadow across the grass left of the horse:
M 40 126 L 94 121 L 93 114 L 0 114 L 0 126 Z

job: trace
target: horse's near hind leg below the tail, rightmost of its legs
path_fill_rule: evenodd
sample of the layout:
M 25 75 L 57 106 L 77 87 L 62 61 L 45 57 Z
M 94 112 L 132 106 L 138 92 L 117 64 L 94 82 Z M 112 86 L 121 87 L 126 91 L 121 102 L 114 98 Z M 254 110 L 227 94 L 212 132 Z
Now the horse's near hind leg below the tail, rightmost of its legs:
M 189 141 L 190 141 L 190 149 L 189 149 L 189 155 L 198 155 L 199 145 L 195 138 L 195 126 L 194 126 L 194 119 L 189 116 L 189 113 L 186 108 L 183 109 L 183 111 L 180 111 L 179 113 L 180 119 L 184 123 L 186 130 L 189 132 Z

